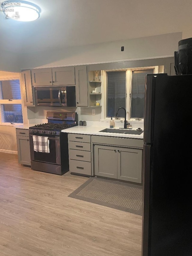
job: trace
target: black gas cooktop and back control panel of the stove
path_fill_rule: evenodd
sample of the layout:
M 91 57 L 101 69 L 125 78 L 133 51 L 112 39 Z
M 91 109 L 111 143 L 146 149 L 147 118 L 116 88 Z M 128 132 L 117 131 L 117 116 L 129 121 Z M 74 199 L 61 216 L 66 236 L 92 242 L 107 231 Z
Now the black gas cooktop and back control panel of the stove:
M 61 130 L 78 125 L 76 113 L 47 112 L 48 123 L 38 124 L 29 127 L 29 133 L 34 135 L 56 135 L 59 136 Z

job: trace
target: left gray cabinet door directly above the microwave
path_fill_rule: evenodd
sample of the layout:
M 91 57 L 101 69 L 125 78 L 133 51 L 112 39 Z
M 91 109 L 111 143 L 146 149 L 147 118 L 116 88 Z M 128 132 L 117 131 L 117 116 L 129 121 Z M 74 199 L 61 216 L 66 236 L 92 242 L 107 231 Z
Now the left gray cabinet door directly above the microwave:
M 41 68 L 32 70 L 33 86 L 50 86 L 52 85 L 52 69 Z

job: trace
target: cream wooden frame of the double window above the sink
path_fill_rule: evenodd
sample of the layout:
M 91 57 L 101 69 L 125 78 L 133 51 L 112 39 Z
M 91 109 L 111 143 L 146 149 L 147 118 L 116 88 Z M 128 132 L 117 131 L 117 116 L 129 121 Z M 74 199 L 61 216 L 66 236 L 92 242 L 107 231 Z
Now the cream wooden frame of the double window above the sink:
M 110 117 L 107 117 L 107 79 L 106 73 L 108 71 L 126 71 L 126 120 L 131 123 L 144 122 L 144 118 L 135 119 L 131 118 L 131 80 L 132 80 L 132 71 L 146 70 L 146 69 L 154 69 L 154 74 L 158 74 L 159 66 L 147 66 L 147 67 L 139 67 L 139 68 L 123 68 L 123 69 L 109 69 L 109 70 L 101 70 L 101 84 L 102 86 L 102 108 L 101 111 L 101 122 L 106 122 L 110 120 Z M 115 122 L 123 122 L 124 118 L 120 118 L 118 120 L 114 120 Z

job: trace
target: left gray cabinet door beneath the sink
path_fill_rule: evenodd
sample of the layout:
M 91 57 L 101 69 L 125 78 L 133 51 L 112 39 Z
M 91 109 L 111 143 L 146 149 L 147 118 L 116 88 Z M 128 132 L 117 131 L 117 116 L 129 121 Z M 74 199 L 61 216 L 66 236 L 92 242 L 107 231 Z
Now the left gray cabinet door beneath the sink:
M 95 175 L 117 179 L 117 148 L 94 146 Z

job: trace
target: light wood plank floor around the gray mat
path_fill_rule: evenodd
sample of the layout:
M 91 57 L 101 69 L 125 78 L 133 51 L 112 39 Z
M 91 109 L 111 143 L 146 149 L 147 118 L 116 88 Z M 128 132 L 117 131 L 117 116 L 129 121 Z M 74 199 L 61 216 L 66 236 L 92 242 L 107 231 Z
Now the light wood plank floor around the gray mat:
M 141 216 L 67 197 L 87 179 L 0 153 L 0 255 L 141 256 Z

